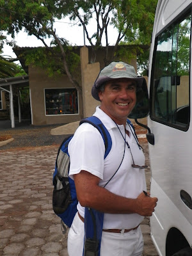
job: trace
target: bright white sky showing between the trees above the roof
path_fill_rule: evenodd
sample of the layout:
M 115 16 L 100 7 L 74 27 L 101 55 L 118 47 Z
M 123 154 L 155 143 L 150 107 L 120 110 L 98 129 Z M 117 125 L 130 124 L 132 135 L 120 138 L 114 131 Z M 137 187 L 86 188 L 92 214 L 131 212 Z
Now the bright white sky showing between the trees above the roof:
M 96 31 L 96 22 L 90 22 L 88 26 L 88 31 Z M 72 45 L 84 45 L 84 34 L 83 34 L 83 27 L 74 25 L 72 21 L 68 18 L 58 20 L 54 24 L 54 28 L 56 29 L 56 34 L 60 37 L 63 37 L 68 40 L 68 42 Z M 67 33 L 66 33 L 67 31 Z M 109 27 L 109 43 L 110 45 L 115 44 L 115 39 L 117 38 L 117 31 L 112 26 Z M 9 40 L 12 40 L 11 36 L 8 36 Z M 20 31 L 17 35 L 15 35 L 16 44 L 19 47 L 38 47 L 44 46 L 44 44 L 38 40 L 35 36 L 28 36 L 27 33 Z M 47 39 L 46 43 L 49 44 L 51 40 Z M 102 41 L 104 44 L 104 41 Z M 85 44 L 90 45 L 88 40 L 85 39 Z M 12 50 L 12 47 L 9 45 L 4 45 L 3 47 L 3 56 L 11 56 L 12 58 L 16 58 L 15 53 Z

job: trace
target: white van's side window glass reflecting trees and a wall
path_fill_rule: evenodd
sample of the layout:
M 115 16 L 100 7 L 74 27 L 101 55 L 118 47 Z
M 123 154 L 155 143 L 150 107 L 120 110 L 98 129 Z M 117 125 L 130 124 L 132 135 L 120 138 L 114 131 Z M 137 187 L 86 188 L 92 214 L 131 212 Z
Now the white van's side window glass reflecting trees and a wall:
M 186 130 L 189 124 L 191 15 L 156 38 L 150 91 L 152 120 Z

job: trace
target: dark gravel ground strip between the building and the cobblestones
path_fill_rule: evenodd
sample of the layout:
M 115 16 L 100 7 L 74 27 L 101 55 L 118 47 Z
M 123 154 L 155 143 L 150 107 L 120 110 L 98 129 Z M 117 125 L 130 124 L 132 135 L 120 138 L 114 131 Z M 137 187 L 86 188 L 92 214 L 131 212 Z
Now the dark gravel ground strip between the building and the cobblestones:
M 65 135 L 51 135 L 51 129 L 63 124 L 31 125 L 29 121 L 15 123 L 15 128 L 10 128 L 9 121 L 0 121 L 0 137 L 9 136 L 14 140 L 1 146 L 1 150 L 10 148 L 41 147 L 60 145 Z

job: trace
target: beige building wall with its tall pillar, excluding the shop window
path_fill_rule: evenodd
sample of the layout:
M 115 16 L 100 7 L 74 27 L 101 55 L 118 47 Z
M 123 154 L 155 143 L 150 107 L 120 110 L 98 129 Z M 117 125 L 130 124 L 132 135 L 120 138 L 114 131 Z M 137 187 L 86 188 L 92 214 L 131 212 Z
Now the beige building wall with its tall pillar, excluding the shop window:
M 97 62 L 90 63 L 90 48 L 81 47 L 81 67 L 78 67 L 76 74 L 79 84 L 82 84 L 83 102 L 81 95 L 78 97 L 79 114 L 73 115 L 45 115 L 45 88 L 73 88 L 68 77 L 48 77 L 44 70 L 40 68 L 29 67 L 29 88 L 31 93 L 31 120 L 33 125 L 45 124 L 65 124 L 76 122 L 86 116 L 92 116 L 96 106 L 100 102 L 93 99 L 91 90 L 100 68 L 104 67 L 102 51 L 97 53 Z M 114 60 L 115 61 L 115 60 Z M 117 60 L 116 60 L 117 61 Z M 126 60 L 123 60 L 128 62 Z M 136 58 L 129 61 L 136 69 Z M 83 113 L 83 115 L 81 115 Z

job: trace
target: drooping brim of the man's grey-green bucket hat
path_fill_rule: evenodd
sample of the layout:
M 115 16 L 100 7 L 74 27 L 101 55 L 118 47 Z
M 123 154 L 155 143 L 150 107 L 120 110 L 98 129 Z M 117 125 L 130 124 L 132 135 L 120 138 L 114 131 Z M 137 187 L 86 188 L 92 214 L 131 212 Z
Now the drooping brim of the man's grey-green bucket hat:
M 126 78 L 126 79 L 131 79 L 131 80 L 134 80 L 136 81 L 136 84 L 138 87 L 141 87 L 142 84 L 143 84 L 143 80 L 145 79 L 144 77 L 121 77 L 121 78 Z M 98 94 L 98 89 L 99 87 L 104 84 L 105 82 L 109 81 L 109 80 L 114 80 L 114 79 L 118 79 L 118 78 L 111 78 L 111 77 L 108 77 L 108 76 L 105 76 L 105 77 L 100 77 L 97 79 L 96 83 L 93 84 L 93 87 L 92 87 L 92 96 L 95 100 L 99 100 L 99 94 Z

